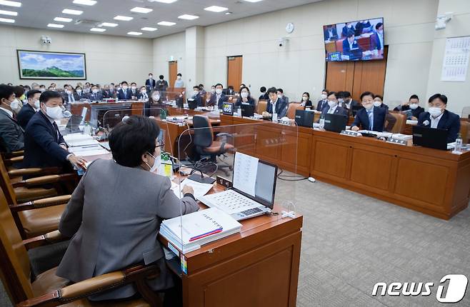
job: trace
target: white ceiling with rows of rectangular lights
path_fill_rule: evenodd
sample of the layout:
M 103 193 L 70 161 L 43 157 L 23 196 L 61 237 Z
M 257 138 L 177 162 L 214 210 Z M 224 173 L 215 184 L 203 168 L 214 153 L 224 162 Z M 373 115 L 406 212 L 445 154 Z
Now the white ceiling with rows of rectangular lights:
M 190 26 L 209 26 L 211 24 L 219 24 L 224 21 L 240 19 L 247 16 L 254 16 L 263 14 L 269 11 L 277 11 L 279 9 L 286 9 L 289 7 L 299 6 L 301 4 L 308 4 L 311 2 L 321 0 L 263 0 L 256 3 L 251 3 L 244 0 L 178 0 L 172 4 L 163 4 L 160 2 L 153 2 L 152 0 L 97 0 L 94 6 L 84 6 L 73 4 L 73 0 L 14 0 L 22 3 L 21 7 L 16 8 L 12 6 L 0 5 L 0 10 L 17 11 L 18 16 L 4 16 L 0 17 L 15 19 L 16 26 L 28 26 L 31 28 L 50 29 L 56 31 L 75 31 L 89 34 L 108 34 L 116 36 L 130 36 L 127 35 L 129 31 L 139 31 L 143 34 L 141 36 L 146 39 L 153 39 L 159 36 L 174 34 Z M 214 13 L 211 11 L 204 11 L 207 6 L 224 6 L 229 8 L 228 11 L 232 12 L 226 15 L 226 12 Z M 146 7 L 153 9 L 148 14 L 139 14 L 131 12 L 136 6 Z M 76 9 L 84 11 L 79 16 L 62 14 L 63 9 Z M 192 21 L 178 19 L 178 16 L 183 14 L 191 14 L 199 16 L 199 19 Z M 131 21 L 116 21 L 114 16 L 124 15 L 134 17 Z M 54 21 L 55 17 L 69 17 L 73 21 L 58 22 Z M 96 24 L 76 24 L 79 19 L 86 19 L 96 21 Z M 159 21 L 173 21 L 176 22 L 174 26 L 159 26 Z M 106 31 L 101 33 L 91 32 L 93 26 L 101 24 L 101 22 L 111 22 L 119 24 L 114 28 L 104 27 Z M 64 24 L 62 29 L 48 28 L 47 24 Z M 0 24 L 4 24 L 3 22 Z M 11 25 L 11 24 L 9 24 Z M 157 28 L 157 31 L 141 31 L 144 26 Z

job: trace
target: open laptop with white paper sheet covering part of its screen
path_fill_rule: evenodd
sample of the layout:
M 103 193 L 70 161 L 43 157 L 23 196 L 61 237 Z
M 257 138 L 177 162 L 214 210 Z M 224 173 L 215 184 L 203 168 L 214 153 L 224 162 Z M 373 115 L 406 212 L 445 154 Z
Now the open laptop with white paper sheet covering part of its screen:
M 199 197 L 199 201 L 221 209 L 236 221 L 261 216 L 274 208 L 276 178 L 276 165 L 236 152 L 232 187 Z

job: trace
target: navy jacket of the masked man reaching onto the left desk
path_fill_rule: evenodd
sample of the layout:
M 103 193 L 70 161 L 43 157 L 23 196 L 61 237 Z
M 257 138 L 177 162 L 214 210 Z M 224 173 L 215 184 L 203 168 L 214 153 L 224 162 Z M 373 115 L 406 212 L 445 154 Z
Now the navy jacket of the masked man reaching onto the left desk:
M 24 133 L 24 167 L 64 168 L 70 153 L 59 144 L 66 144 L 59 130 L 54 128 L 42 111 L 36 112 Z

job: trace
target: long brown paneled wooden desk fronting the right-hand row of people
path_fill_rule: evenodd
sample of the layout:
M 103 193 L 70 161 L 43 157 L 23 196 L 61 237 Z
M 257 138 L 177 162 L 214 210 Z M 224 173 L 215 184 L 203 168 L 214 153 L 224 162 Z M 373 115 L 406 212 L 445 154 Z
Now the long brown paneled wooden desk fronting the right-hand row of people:
M 221 115 L 223 126 L 256 122 L 259 121 Z M 251 125 L 251 129 L 255 127 L 256 140 L 246 142 L 248 146 L 239 146 L 235 141 L 236 148 L 287 171 L 438 218 L 449 219 L 469 204 L 470 151 L 456 155 L 273 123 Z M 237 129 L 244 128 L 235 126 Z M 289 141 L 290 138 L 296 141 Z M 280 139 L 279 146 L 267 150 L 264 144 L 272 139 Z

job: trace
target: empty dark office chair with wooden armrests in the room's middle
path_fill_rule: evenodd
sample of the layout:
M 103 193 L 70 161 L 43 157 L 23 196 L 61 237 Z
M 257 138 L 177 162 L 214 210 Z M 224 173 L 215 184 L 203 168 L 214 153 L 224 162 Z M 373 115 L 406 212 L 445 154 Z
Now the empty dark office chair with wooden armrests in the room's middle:
M 221 137 L 231 137 L 231 134 L 220 133 L 216 134 L 214 140 L 214 130 L 212 129 L 209 117 L 203 115 L 193 116 L 194 126 L 194 140 L 193 144 L 196 152 L 203 158 L 209 156 L 211 161 L 216 163 L 216 156 L 222 156 L 228 151 L 234 151 L 232 144 L 226 143 L 226 141 L 219 141 Z M 219 165 L 219 168 L 232 169 L 231 165 Z

